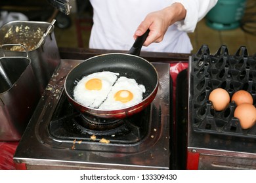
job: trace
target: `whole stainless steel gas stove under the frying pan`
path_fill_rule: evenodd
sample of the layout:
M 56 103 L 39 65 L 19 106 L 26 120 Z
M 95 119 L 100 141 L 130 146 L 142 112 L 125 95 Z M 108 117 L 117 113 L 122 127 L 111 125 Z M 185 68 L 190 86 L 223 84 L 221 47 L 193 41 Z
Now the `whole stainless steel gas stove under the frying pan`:
M 61 60 L 18 144 L 16 168 L 170 169 L 169 63 L 153 63 L 160 86 L 147 108 L 129 118 L 106 120 L 102 126 L 77 112 L 64 92 L 66 75 L 82 61 Z

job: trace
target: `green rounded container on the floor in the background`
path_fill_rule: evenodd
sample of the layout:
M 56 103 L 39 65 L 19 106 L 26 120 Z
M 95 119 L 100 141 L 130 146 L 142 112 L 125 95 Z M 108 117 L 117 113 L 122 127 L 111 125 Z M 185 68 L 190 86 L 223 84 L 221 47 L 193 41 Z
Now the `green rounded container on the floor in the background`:
M 219 0 L 206 15 L 206 24 L 218 30 L 235 29 L 240 26 L 247 0 Z

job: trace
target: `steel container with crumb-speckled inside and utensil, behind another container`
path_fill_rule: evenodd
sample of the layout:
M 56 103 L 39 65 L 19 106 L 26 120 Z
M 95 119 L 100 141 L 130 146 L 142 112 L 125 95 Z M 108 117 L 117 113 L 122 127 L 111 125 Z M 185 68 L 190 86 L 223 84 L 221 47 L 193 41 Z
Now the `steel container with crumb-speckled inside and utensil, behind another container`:
M 0 29 L 0 37 L 3 38 L 0 40 L 0 45 L 24 44 L 26 46 L 28 56 L 32 60 L 32 69 L 40 93 L 43 93 L 54 70 L 60 63 L 53 29 L 53 25 L 48 22 L 33 21 L 13 21 L 3 25 Z M 20 56 L 20 54 L 26 56 L 23 50 L 15 47 L 10 49 L 14 51 L 5 50 L 7 56 Z M 2 52 L 0 56 L 3 56 Z

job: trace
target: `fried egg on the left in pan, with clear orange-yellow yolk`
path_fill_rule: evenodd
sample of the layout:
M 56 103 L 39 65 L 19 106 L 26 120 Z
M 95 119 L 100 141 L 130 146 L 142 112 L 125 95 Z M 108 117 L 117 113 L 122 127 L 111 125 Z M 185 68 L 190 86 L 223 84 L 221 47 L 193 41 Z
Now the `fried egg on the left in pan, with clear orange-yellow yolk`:
M 118 73 L 103 71 L 83 77 L 74 88 L 74 99 L 85 107 L 98 108 L 106 99 Z

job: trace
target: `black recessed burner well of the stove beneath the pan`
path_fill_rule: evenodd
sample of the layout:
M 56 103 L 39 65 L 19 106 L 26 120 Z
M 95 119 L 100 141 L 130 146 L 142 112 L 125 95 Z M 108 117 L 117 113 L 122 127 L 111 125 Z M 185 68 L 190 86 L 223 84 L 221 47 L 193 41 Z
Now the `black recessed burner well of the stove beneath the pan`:
M 139 142 L 149 132 L 150 108 L 123 119 L 97 118 L 75 110 L 63 94 L 49 123 L 49 134 L 58 141 L 92 141 L 96 135 L 118 144 Z

